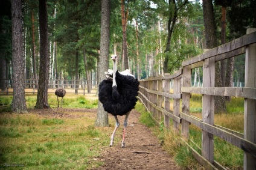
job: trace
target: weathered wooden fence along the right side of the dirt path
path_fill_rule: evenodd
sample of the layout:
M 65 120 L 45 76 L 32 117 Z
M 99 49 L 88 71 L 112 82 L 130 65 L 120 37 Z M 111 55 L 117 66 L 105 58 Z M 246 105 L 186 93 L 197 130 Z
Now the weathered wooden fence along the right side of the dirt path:
M 245 87 L 214 87 L 215 63 L 242 53 L 246 56 Z M 203 87 L 191 87 L 191 69 L 197 67 L 203 67 Z M 171 80 L 173 93 L 170 93 Z M 190 115 L 191 93 L 202 94 L 202 120 Z M 214 124 L 214 96 L 245 98 L 244 134 Z M 182 140 L 206 169 L 225 169 L 214 160 L 214 135 L 244 151 L 244 169 L 256 169 L 256 29 L 250 28 L 243 37 L 182 62 L 182 69 L 174 74 L 141 80 L 138 99 L 156 123 L 163 118 L 165 127 L 170 128 L 172 119 L 173 129 L 181 127 Z M 202 154 L 188 144 L 190 124 L 202 130 Z

